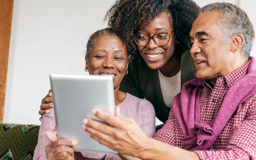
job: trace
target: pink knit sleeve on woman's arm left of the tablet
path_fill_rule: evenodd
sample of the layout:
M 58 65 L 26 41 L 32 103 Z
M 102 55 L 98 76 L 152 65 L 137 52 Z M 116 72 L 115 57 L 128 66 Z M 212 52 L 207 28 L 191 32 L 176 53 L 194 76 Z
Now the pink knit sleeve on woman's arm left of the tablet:
M 34 159 L 47 159 L 45 149 L 49 144 L 51 144 L 51 142 L 45 137 L 44 132 L 48 131 L 56 135 L 57 132 L 53 131 L 55 126 L 54 110 L 51 108 L 49 114 L 43 115 L 43 122 L 39 129 L 38 141 L 34 152 Z

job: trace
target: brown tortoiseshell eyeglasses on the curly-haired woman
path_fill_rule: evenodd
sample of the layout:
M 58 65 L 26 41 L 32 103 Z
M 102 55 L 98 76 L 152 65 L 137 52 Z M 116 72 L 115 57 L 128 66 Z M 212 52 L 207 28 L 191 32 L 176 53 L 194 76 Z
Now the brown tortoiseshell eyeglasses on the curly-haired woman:
M 173 32 L 173 31 L 172 31 Z M 166 45 L 170 41 L 170 37 L 172 32 L 161 32 L 157 33 L 153 36 L 148 36 L 142 33 L 134 34 L 134 40 L 136 44 L 138 44 L 141 47 L 144 47 L 148 44 L 150 39 L 154 39 L 154 42 L 157 45 Z

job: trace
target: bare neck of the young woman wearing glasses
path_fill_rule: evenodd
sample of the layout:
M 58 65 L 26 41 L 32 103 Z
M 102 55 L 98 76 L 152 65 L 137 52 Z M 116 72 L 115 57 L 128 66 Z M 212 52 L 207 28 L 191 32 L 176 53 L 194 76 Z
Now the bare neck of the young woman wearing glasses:
M 173 53 L 170 60 L 162 67 L 159 68 L 161 73 L 166 77 L 172 77 L 175 76 L 180 71 L 181 66 L 181 57 L 179 58 L 176 56 L 175 53 Z

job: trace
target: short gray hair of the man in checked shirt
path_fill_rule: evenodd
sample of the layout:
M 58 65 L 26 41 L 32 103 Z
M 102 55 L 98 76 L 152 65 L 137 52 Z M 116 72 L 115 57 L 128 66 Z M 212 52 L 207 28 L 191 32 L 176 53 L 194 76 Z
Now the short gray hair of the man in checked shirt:
M 242 51 L 244 57 L 249 57 L 254 40 L 254 30 L 246 13 L 239 7 L 230 3 L 212 3 L 202 7 L 202 12 L 217 11 L 223 20 L 220 27 L 223 29 L 223 43 L 227 44 L 231 36 L 241 33 L 244 36 Z

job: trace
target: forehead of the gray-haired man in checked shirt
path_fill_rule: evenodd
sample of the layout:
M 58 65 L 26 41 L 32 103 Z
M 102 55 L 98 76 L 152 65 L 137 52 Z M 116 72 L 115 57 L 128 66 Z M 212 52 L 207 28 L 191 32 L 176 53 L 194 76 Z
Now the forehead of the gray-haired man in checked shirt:
M 190 36 L 194 37 L 198 35 L 199 32 L 205 32 L 209 34 L 217 34 L 221 31 L 218 26 L 218 22 L 221 20 L 220 12 L 210 11 L 201 13 L 196 20 L 193 22 Z

